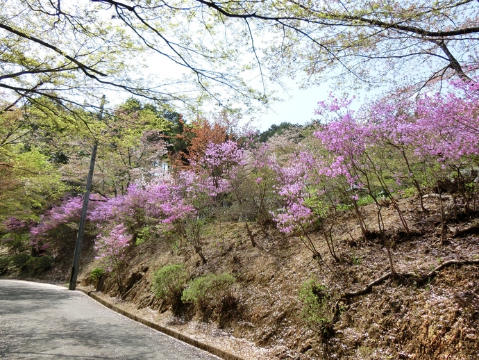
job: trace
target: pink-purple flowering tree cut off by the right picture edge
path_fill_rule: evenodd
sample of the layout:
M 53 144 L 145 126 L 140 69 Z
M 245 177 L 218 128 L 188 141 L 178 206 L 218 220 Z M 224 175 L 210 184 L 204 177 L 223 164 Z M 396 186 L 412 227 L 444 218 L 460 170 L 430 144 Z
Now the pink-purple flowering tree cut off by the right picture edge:
M 477 83 L 453 83 L 455 91 L 423 96 L 415 108 L 417 120 L 410 134 L 423 158 L 435 158 L 453 173 L 455 190 L 464 200 L 464 211 L 477 192 L 479 162 L 479 89 Z M 446 182 L 451 182 L 446 179 Z M 437 190 L 441 190 L 439 184 Z

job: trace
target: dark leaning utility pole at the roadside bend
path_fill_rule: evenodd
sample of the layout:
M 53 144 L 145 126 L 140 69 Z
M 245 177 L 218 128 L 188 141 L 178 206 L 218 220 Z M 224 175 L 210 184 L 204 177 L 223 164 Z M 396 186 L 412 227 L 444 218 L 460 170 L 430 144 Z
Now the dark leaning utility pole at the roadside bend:
M 103 120 L 103 106 L 105 105 L 106 97 L 101 98 L 101 106 L 98 120 Z M 90 170 L 88 170 L 87 188 L 85 197 L 83 197 L 83 207 L 81 208 L 80 225 L 78 226 L 78 234 L 76 236 L 75 253 L 73 256 L 72 272 L 70 273 L 69 290 L 76 289 L 76 277 L 78 277 L 78 267 L 80 266 L 81 245 L 83 245 L 83 233 L 85 232 L 85 222 L 87 220 L 88 200 L 90 199 L 90 191 L 92 190 L 93 170 L 95 167 L 96 149 L 98 148 L 98 139 L 95 139 L 92 147 L 92 157 L 90 158 Z

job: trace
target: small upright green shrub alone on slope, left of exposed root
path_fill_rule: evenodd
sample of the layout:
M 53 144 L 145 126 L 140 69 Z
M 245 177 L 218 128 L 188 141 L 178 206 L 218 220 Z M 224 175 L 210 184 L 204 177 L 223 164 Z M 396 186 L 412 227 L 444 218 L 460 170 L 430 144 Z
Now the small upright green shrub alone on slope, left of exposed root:
M 324 338 L 334 334 L 333 306 L 330 304 L 331 295 L 326 286 L 310 279 L 301 285 L 299 297 L 303 302 L 302 316 L 306 324 Z

